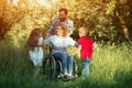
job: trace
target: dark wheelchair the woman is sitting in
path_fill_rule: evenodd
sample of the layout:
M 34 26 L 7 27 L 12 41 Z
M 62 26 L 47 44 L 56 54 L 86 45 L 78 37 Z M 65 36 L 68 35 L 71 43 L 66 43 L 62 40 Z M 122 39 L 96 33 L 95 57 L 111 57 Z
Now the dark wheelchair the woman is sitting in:
M 61 61 L 58 61 L 52 55 L 51 46 L 48 47 L 48 50 L 50 50 L 50 54 L 45 57 L 43 62 L 43 66 L 42 66 L 43 75 L 45 75 L 47 79 L 56 80 L 56 79 L 59 79 L 58 76 L 63 77 L 63 67 L 62 67 Z M 76 78 L 77 77 L 77 63 L 75 59 L 73 63 L 74 63 L 73 75 Z

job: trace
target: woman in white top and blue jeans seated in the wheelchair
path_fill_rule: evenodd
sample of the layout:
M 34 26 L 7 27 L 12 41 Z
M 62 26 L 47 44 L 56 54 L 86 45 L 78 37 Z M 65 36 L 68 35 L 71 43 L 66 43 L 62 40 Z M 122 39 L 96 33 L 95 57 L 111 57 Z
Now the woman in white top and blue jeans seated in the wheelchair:
M 73 78 L 73 57 L 66 51 L 67 46 L 76 46 L 76 42 L 67 36 L 67 28 L 63 24 L 57 24 L 55 28 L 56 34 L 51 35 L 45 40 L 45 45 L 52 44 L 52 55 L 61 61 L 63 74 L 65 78 Z

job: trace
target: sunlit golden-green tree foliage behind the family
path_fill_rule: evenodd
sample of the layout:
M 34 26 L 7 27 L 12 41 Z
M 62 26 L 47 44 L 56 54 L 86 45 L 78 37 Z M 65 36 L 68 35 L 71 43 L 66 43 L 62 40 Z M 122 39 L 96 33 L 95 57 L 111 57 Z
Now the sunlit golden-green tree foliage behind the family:
M 125 28 L 131 37 L 132 28 L 132 1 L 131 0 L 45 0 L 42 6 L 37 0 L 20 0 L 18 4 L 0 1 L 0 40 L 25 40 L 32 29 L 46 30 L 61 7 L 66 7 L 68 16 L 74 20 L 74 38 L 78 38 L 77 29 L 86 26 L 88 35 L 98 42 L 121 42 L 125 40 L 125 33 L 120 22 L 123 16 Z M 119 15 L 117 15 L 117 12 Z M 117 41 L 118 40 L 118 41 Z

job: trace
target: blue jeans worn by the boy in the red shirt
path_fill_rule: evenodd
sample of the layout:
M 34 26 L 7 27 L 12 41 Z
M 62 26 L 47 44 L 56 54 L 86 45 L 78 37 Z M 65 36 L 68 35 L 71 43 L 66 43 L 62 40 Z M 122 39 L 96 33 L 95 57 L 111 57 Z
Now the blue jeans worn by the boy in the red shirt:
M 81 59 L 81 77 L 86 78 L 89 75 L 90 58 Z

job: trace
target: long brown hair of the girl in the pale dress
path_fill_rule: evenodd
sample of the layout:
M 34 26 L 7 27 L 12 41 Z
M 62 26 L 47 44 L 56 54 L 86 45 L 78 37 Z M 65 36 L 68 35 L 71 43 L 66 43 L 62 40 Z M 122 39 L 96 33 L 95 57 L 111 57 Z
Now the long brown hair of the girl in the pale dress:
M 31 34 L 30 37 L 28 38 L 28 42 L 25 44 L 28 50 L 34 50 L 34 47 L 38 46 L 38 38 L 41 35 L 42 31 L 40 29 L 34 29 Z

